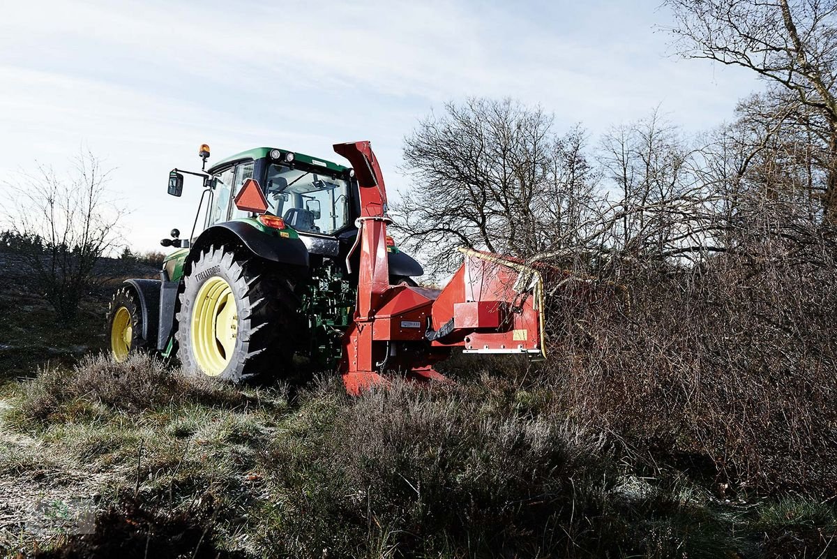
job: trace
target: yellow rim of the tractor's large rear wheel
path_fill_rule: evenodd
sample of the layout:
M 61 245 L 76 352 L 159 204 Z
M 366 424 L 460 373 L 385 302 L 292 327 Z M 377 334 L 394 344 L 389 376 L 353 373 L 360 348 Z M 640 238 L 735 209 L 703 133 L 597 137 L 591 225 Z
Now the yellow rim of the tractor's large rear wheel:
M 238 333 L 239 314 L 233 288 L 213 276 L 198 290 L 192 312 L 192 351 L 205 374 L 217 377 L 227 368 Z

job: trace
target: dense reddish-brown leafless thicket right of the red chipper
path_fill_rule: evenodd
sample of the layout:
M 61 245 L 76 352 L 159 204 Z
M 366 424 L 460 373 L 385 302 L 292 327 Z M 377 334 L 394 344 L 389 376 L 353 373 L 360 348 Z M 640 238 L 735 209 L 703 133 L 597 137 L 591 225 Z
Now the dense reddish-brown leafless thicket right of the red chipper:
M 690 267 L 626 264 L 629 296 L 606 282 L 559 290 L 538 382 L 564 413 L 731 491 L 830 497 L 837 282 L 835 253 L 814 240 L 752 241 L 739 249 L 757 256 Z

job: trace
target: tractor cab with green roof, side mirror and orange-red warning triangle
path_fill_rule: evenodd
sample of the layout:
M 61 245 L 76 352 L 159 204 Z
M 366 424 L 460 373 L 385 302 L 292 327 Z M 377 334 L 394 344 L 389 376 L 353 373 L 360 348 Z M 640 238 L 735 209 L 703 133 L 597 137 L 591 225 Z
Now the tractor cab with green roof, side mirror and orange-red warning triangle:
M 201 146 L 200 156 L 205 167 L 209 146 Z M 352 168 L 296 151 L 256 147 L 203 172 L 173 169 L 169 194 L 181 196 L 182 173 L 203 177 L 203 195 L 189 237 L 163 239 L 163 246 L 188 247 L 194 253 L 201 244 L 218 242 L 218 237 L 226 242 L 232 232 L 254 253 L 280 264 L 311 269 L 326 258 L 350 272 L 357 261 L 357 254 L 346 260 L 357 239 L 361 214 Z M 388 258 L 393 280 L 410 282 L 410 277 L 424 274 L 392 238 L 388 238 Z

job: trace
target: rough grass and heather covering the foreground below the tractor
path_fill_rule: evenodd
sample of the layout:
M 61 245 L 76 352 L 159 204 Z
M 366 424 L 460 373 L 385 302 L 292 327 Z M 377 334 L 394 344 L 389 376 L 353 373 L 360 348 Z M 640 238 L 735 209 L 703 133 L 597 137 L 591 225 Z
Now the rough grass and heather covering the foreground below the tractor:
M 0 454 L 0 475 L 107 480 L 95 535 L 40 541 L 49 556 L 145 538 L 157 556 L 809 557 L 837 530 L 833 505 L 725 503 L 677 469 L 649 476 L 543 382 L 349 398 L 331 377 L 289 403 L 137 356 L 47 370 L 16 394 L 8 419 L 39 447 Z

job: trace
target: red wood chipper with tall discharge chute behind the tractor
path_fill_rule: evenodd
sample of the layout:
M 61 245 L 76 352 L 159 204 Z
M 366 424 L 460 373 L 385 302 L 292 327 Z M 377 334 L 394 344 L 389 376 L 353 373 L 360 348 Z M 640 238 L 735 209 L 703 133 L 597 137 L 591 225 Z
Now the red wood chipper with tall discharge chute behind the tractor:
M 377 159 L 368 141 L 336 144 L 334 150 L 352 162 L 361 203 L 357 305 L 341 362 L 348 392 L 385 382 L 386 371 L 444 380 L 434 363 L 457 346 L 470 353 L 545 356 L 542 278 L 515 259 L 466 249 L 464 264 L 441 291 L 389 285 L 391 220 Z

